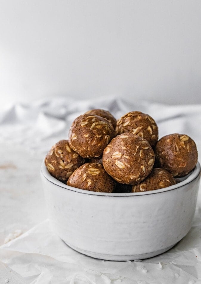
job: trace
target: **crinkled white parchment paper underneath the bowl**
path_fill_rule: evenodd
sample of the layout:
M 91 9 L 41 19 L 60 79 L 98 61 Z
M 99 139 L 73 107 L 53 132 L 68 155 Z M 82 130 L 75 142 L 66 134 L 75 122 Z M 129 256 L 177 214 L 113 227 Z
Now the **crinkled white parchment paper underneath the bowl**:
M 1 261 L 26 283 L 201 283 L 201 222 L 174 248 L 140 262 L 93 259 L 69 248 L 49 220 L 1 246 Z

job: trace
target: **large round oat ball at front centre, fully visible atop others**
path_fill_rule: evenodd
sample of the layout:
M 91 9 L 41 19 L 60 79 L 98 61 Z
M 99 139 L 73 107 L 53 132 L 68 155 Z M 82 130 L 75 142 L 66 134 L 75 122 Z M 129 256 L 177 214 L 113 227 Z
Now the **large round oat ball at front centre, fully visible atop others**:
M 116 136 L 103 151 L 103 167 L 122 184 L 137 184 L 150 174 L 155 161 L 147 142 L 132 133 Z

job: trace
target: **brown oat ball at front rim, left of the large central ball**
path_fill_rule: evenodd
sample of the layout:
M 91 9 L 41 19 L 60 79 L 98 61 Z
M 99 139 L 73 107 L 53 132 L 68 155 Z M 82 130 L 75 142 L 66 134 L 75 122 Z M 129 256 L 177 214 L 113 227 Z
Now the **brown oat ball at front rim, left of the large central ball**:
M 116 182 L 101 164 L 86 163 L 72 173 L 67 185 L 90 191 L 113 192 Z

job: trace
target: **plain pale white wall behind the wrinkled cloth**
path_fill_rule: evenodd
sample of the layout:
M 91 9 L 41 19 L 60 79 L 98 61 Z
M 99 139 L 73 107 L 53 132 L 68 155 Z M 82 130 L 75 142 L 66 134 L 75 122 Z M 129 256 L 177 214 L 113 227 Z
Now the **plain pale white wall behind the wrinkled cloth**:
M 1 0 L 0 104 L 201 103 L 201 1 Z

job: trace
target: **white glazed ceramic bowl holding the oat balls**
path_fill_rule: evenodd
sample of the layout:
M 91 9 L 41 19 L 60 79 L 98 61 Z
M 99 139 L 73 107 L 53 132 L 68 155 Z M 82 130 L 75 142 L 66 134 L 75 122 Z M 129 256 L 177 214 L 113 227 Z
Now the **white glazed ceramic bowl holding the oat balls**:
M 55 232 L 71 248 L 106 260 L 144 259 L 172 248 L 190 230 L 200 164 L 178 184 L 141 193 L 98 193 L 41 178 Z

